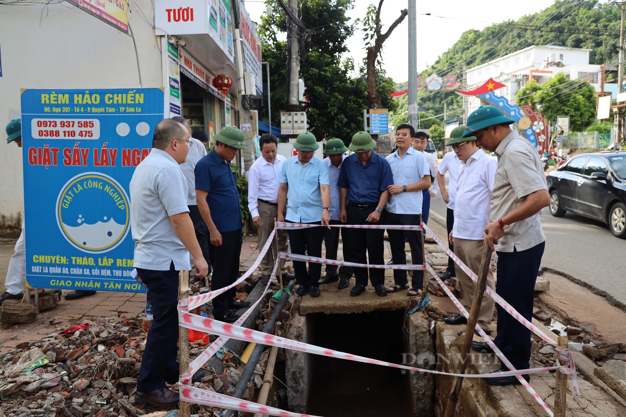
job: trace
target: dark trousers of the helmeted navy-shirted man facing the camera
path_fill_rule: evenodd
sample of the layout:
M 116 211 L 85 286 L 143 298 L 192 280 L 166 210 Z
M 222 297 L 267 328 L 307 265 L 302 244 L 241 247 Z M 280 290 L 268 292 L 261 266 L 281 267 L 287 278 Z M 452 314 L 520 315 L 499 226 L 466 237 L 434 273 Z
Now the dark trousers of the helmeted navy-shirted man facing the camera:
M 346 206 L 346 212 L 348 217 L 348 224 L 376 224 L 366 222 L 367 216 L 374 212 L 376 207 L 371 209 L 361 210 L 351 203 Z M 381 218 L 378 220 L 378 224 L 386 224 L 387 212 L 382 210 Z M 350 252 L 351 262 L 357 262 L 358 264 L 372 264 L 372 265 L 384 265 L 384 247 L 383 236 L 384 229 L 348 229 L 350 235 Z M 367 252 L 367 255 L 366 255 Z M 369 258 L 369 262 L 367 259 Z M 366 286 L 367 285 L 367 268 L 355 267 L 354 277 L 356 278 L 356 284 Z M 385 270 L 378 268 L 369 269 L 369 280 L 372 282 L 372 287 L 376 284 L 384 284 L 385 282 Z

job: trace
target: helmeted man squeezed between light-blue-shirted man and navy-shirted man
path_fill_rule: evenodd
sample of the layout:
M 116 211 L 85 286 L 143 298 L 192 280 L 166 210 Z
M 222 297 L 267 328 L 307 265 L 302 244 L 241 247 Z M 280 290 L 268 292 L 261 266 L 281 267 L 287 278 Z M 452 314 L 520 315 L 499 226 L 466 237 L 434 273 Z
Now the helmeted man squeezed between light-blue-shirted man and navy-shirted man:
M 344 144 L 344 141 L 337 138 L 332 138 L 326 141 L 324 147 L 324 155 L 328 155 L 328 158 L 324 158 L 322 162 L 326 164 L 328 168 L 328 182 L 329 188 L 331 188 L 331 225 L 341 224 L 339 217 L 339 207 L 341 207 L 341 201 L 339 200 L 339 186 L 337 185 L 337 179 L 339 179 L 339 173 L 341 167 L 346 160 L 347 156 L 344 152 L 347 152 L 348 148 Z M 341 241 L 343 244 L 344 260 L 350 260 L 350 238 L 348 236 L 347 229 L 342 227 L 331 227 L 331 229 L 324 228 L 324 242 L 326 243 L 326 259 L 337 260 L 337 250 L 339 249 L 339 233 L 341 232 Z M 319 281 L 320 284 L 329 284 L 331 282 L 339 281 L 338 289 L 347 288 L 350 284 L 350 278 L 352 277 L 352 267 L 341 266 L 339 267 L 339 273 L 337 273 L 337 265 L 326 265 L 326 277 Z

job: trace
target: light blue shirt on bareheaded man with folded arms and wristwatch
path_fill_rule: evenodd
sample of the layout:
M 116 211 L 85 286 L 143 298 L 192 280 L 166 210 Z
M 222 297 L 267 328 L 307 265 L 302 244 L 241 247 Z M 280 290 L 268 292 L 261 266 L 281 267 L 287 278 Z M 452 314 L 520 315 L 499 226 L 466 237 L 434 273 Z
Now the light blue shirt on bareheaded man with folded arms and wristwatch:
M 424 176 L 430 175 L 426 155 L 413 147 L 409 147 L 402 158 L 396 150 L 386 159 L 391 166 L 396 185 L 416 184 Z M 390 194 L 385 208 L 387 212 L 394 214 L 422 214 L 422 190 Z

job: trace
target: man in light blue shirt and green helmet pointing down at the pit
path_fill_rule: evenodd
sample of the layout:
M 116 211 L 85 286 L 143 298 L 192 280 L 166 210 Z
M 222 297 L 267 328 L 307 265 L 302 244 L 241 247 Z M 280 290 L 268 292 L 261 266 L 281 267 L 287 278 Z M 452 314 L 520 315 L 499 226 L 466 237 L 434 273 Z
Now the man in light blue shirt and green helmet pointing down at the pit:
M 298 155 L 282 163 L 280 189 L 278 193 L 278 221 L 290 223 L 329 225 L 331 221 L 331 192 L 328 187 L 328 168 L 314 158 L 319 148 L 315 136 L 310 132 L 300 133 L 294 143 Z M 287 201 L 287 215 L 283 217 L 283 207 Z M 289 229 L 291 252 L 298 255 L 322 257 L 323 227 L 310 229 Z M 318 297 L 319 277 L 322 264 L 294 261 L 295 279 L 300 282 L 297 290 L 304 296 L 310 289 L 312 297 Z

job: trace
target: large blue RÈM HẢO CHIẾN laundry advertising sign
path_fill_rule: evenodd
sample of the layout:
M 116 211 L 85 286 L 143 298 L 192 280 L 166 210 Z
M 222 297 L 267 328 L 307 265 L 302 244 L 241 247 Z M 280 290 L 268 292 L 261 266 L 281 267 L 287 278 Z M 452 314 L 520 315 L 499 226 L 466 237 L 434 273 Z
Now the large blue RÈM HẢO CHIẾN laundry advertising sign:
M 163 90 L 23 90 L 26 281 L 145 292 L 131 276 L 129 185 Z

